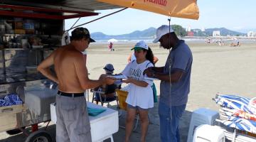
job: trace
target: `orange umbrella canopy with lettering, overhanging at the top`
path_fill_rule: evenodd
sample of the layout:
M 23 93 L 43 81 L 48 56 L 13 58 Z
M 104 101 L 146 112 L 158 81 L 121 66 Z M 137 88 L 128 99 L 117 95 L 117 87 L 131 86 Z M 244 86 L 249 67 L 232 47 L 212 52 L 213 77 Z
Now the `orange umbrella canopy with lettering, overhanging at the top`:
M 196 0 L 97 0 L 107 4 L 130 7 L 166 16 L 198 19 Z

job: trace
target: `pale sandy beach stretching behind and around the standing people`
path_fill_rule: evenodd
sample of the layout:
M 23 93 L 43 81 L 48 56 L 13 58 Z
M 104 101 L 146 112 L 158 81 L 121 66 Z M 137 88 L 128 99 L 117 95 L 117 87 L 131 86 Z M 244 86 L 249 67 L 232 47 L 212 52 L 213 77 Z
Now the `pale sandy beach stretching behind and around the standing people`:
M 87 69 L 90 79 L 97 79 L 104 72 L 107 63 L 114 65 L 114 73 L 122 72 L 127 65 L 127 57 L 135 43 L 114 43 L 114 52 L 107 49 L 107 43 L 92 43 L 87 50 Z M 189 42 L 193 53 L 191 72 L 191 92 L 188 97 L 186 112 L 181 119 L 181 141 L 186 141 L 188 126 L 192 111 L 198 108 L 208 108 L 218 111 L 218 106 L 212 101 L 216 93 L 237 94 L 243 97 L 256 97 L 256 42 L 242 43 L 240 47 L 217 44 Z M 159 58 L 156 66 L 164 66 L 169 50 L 159 48 L 158 44 L 149 43 L 154 55 Z M 155 81 L 159 95 L 159 81 Z M 90 94 L 90 96 L 92 96 Z M 90 99 L 91 100 L 91 99 Z M 112 107 L 115 107 L 113 102 Z M 158 103 L 150 110 L 151 124 L 146 141 L 156 142 L 159 138 Z M 124 116 L 119 119 L 124 125 Z M 140 127 L 132 133 L 131 141 L 139 141 Z M 55 135 L 55 125 L 49 131 Z M 0 133 L 1 142 L 24 141 L 22 134 L 9 136 Z M 114 134 L 114 141 L 124 140 L 124 129 Z

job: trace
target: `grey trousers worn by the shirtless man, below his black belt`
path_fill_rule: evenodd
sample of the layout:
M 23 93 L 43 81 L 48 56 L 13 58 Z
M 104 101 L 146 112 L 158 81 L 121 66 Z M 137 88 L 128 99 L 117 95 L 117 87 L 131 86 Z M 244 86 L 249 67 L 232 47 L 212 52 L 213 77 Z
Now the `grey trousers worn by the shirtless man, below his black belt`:
M 56 142 L 91 142 L 85 97 L 56 97 Z

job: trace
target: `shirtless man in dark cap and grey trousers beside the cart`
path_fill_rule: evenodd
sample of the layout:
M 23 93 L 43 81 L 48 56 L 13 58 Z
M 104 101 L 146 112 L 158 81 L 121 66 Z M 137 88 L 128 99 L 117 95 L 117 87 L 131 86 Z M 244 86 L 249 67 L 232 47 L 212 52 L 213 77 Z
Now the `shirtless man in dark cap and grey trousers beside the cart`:
M 56 96 L 56 141 L 57 142 L 89 142 L 90 120 L 87 113 L 85 89 L 112 84 L 114 80 L 102 77 L 100 80 L 88 78 L 82 51 L 88 48 L 90 38 L 87 28 L 75 28 L 71 43 L 55 50 L 38 66 L 38 71 L 58 83 Z M 54 65 L 56 76 L 49 67 Z

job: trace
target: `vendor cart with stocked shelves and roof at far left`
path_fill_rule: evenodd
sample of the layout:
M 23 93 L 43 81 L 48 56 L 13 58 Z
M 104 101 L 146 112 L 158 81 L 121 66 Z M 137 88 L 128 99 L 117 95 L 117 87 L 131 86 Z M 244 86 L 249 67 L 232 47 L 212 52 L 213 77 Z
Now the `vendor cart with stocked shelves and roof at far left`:
M 38 124 L 50 122 L 50 104 L 55 102 L 57 85 L 41 75 L 37 65 L 62 45 L 66 18 L 95 15 L 52 3 L 1 1 L 0 131 L 22 131 L 28 136 L 26 142 L 52 141 L 47 131 L 38 131 Z M 12 97 L 22 103 L 10 104 Z M 25 131 L 27 126 L 33 133 Z

